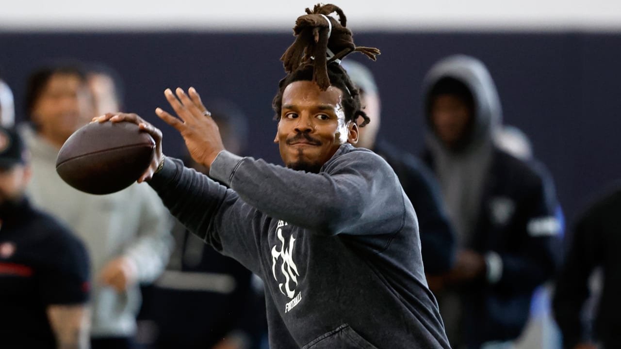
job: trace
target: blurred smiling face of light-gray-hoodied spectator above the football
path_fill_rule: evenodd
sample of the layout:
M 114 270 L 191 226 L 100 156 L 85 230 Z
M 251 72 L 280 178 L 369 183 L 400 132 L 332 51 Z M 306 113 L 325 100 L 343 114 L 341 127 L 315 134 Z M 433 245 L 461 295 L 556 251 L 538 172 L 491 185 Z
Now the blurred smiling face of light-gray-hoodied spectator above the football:
M 79 76 L 71 74 L 52 75 L 32 110 L 32 119 L 39 126 L 40 134 L 57 145 L 62 145 L 94 116 L 93 97 L 88 86 Z

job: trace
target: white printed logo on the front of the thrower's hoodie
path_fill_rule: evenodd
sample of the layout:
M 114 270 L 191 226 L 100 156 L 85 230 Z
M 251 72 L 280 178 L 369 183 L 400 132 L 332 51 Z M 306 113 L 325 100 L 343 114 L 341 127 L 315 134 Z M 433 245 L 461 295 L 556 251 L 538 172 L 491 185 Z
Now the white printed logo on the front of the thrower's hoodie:
M 278 288 L 280 292 L 285 296 L 293 299 L 296 291 L 295 288 L 297 286 L 297 276 L 300 274 L 297 272 L 296 263 L 293 261 L 293 248 L 296 243 L 296 238 L 289 237 L 289 243 L 285 243 L 283 238 L 283 229 L 287 225 L 283 220 L 278 221 L 278 226 L 276 227 L 276 235 L 278 236 L 278 240 L 281 242 L 281 248 L 278 250 L 278 245 L 274 245 L 271 250 L 272 255 L 272 273 L 274 274 L 274 280 L 278 281 L 278 277 L 276 276 L 276 264 L 278 261 L 282 260 L 280 265 L 280 272 L 284 276 L 284 283 L 279 283 Z

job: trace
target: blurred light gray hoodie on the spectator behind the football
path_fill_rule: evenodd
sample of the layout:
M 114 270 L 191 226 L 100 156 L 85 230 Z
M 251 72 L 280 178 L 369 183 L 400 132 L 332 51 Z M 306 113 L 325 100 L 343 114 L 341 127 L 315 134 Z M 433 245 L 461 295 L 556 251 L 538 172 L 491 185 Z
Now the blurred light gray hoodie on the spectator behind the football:
M 22 127 L 20 132 L 32 153 L 27 193 L 34 206 L 65 223 L 88 248 L 94 278 L 91 335 L 134 336 L 141 302 L 138 283 L 117 292 L 97 278 L 109 261 L 125 256 L 136 268 L 137 282 L 155 280 L 168 262 L 173 243 L 170 214 L 144 184 L 109 195 L 71 188 L 56 173 L 58 148 L 32 129 Z

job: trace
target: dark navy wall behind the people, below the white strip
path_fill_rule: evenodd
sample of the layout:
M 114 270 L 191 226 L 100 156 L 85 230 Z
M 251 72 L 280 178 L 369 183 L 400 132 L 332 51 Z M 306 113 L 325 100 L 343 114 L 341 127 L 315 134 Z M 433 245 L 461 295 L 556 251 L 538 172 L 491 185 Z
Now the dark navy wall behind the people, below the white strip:
M 289 34 L 0 33 L 0 66 L 21 106 L 25 78 L 44 61 L 101 61 L 125 79 L 126 109 L 165 132 L 165 150 L 183 143 L 155 117 L 165 88 L 194 86 L 204 99 L 237 102 L 250 116 L 250 153 L 280 163 L 272 143 L 271 99 L 283 76 L 278 58 Z M 422 148 L 420 82 L 436 60 L 466 53 L 483 60 L 496 81 L 504 120 L 532 139 L 550 168 L 573 220 L 589 199 L 621 173 L 621 34 L 364 33 L 359 45 L 383 54 L 369 67 L 383 99 L 381 134 L 410 152 Z M 356 57 L 366 63 L 364 57 Z M 22 113 L 20 113 L 21 115 Z

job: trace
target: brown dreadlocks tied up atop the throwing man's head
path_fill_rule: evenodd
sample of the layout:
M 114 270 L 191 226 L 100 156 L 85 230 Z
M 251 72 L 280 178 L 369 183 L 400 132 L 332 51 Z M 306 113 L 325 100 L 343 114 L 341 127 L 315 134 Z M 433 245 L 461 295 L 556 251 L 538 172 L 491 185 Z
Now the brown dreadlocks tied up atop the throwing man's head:
M 329 16 L 333 12 L 338 20 Z M 288 75 L 279 82 L 272 102 L 276 119 L 282 111 L 284 89 L 295 81 L 306 80 L 317 83 L 321 91 L 330 85 L 339 88 L 343 92 L 345 120 L 356 122 L 362 117 L 363 127 L 370 119 L 361 111 L 360 91 L 338 63 L 351 52 L 361 52 L 371 60 L 376 60 L 380 52 L 373 47 L 356 47 L 351 30 L 345 27 L 347 17 L 338 6 L 317 4 L 312 11 L 307 8 L 306 13 L 297 18 L 293 28 L 296 40 L 280 58 Z

